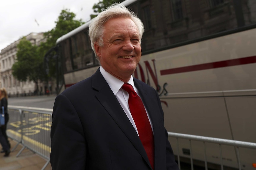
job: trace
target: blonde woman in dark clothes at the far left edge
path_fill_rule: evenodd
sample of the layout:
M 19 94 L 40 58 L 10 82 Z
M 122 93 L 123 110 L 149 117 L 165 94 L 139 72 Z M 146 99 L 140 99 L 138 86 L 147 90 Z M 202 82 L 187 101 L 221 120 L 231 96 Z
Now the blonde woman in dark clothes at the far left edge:
M 4 117 L 5 117 L 5 124 L 0 127 L 0 143 L 3 147 L 1 150 L 1 153 L 5 153 L 4 156 L 9 156 L 10 154 L 10 142 L 8 140 L 8 137 L 6 135 L 6 127 L 7 122 L 9 121 L 9 114 L 7 112 L 7 105 L 8 105 L 8 96 L 5 88 L 0 88 L 0 110 L 2 111 L 2 106 L 4 106 Z

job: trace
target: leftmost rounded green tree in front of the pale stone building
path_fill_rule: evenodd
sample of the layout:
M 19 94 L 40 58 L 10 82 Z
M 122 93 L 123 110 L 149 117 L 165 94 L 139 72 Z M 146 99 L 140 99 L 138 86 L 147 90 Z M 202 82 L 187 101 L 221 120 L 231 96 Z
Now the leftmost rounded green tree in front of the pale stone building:
M 12 65 L 12 75 L 19 81 L 33 81 L 36 84 L 36 92 L 38 92 L 38 80 L 45 78 L 38 46 L 32 45 L 26 37 L 23 37 L 17 48 L 17 61 Z

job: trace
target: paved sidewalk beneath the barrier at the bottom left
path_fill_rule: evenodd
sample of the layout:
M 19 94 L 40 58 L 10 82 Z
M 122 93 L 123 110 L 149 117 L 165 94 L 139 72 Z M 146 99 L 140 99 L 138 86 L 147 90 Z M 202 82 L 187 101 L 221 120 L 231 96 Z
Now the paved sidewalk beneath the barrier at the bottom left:
M 15 147 L 17 142 L 10 139 L 11 147 Z M 41 170 L 47 162 L 44 158 L 33 153 L 29 149 L 24 149 L 21 154 L 16 157 L 23 146 L 18 147 L 10 153 L 9 157 L 4 157 L 4 153 L 0 154 L 0 170 Z M 11 150 L 12 150 L 11 148 Z M 50 163 L 45 170 L 51 170 Z

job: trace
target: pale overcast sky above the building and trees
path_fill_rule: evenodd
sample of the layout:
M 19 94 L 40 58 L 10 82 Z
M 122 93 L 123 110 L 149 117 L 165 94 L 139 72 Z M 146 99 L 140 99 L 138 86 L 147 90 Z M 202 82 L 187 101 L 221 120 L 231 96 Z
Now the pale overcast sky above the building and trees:
M 0 50 L 29 33 L 53 29 L 62 9 L 70 9 L 70 12 L 76 14 L 76 19 L 86 22 L 90 20 L 90 14 L 94 14 L 92 7 L 98 2 L 99 0 L 1 1 Z

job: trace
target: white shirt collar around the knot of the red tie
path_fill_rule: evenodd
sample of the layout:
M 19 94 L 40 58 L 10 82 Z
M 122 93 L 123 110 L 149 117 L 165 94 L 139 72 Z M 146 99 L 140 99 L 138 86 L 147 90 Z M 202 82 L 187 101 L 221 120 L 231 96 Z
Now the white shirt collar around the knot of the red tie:
M 108 83 L 110 89 L 113 91 L 114 95 L 116 95 L 116 93 L 120 90 L 122 85 L 124 85 L 124 82 L 119 80 L 118 78 L 114 77 L 113 75 L 111 75 L 109 72 L 107 72 L 101 66 L 99 67 L 99 71 L 101 72 L 101 74 L 105 78 L 105 80 L 107 81 L 107 83 Z M 132 87 L 135 89 L 132 75 L 131 75 L 130 80 L 127 83 L 132 85 Z

